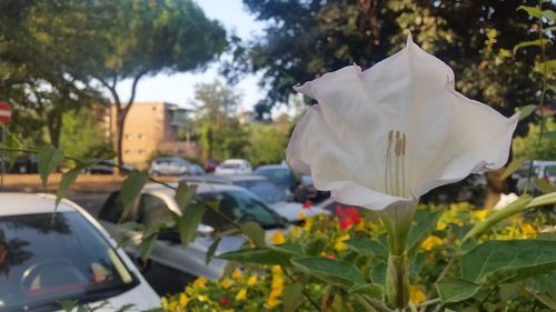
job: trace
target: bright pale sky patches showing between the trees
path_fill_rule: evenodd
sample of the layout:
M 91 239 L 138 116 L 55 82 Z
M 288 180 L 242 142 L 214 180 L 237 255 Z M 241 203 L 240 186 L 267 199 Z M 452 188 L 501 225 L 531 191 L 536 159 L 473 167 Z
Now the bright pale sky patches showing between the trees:
M 245 9 L 241 0 L 196 0 L 202 8 L 205 14 L 210 19 L 219 20 L 228 32 L 234 31 L 236 36 L 246 40 L 257 33 L 261 33 L 264 24 L 255 21 Z M 146 77 L 139 81 L 136 102 L 163 101 L 188 107 L 188 102 L 195 99 L 195 85 L 197 83 L 212 82 L 220 79 L 218 63 L 212 63 L 207 71 L 201 73 L 158 74 Z M 234 89 L 244 94 L 241 109 L 251 110 L 252 105 L 261 99 L 265 93 L 257 87 L 258 78 L 249 76 L 242 79 Z M 122 81 L 117 87 L 122 100 L 129 99 L 131 81 Z

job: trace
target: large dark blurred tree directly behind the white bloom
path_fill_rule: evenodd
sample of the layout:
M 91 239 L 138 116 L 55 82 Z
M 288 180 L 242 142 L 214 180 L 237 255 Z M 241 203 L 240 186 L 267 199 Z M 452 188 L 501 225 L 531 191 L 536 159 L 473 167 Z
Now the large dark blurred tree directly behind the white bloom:
M 536 101 L 538 78 L 529 72 L 534 53 L 512 51 L 534 40 L 530 20 L 516 12 L 533 0 L 244 0 L 265 34 L 236 49 L 224 70 L 231 79 L 240 71 L 262 72 L 268 97 L 258 112 L 288 103 L 291 85 L 356 62 L 364 69 L 405 44 L 409 30 L 418 44 L 447 62 L 457 88 L 505 114 Z M 552 6 L 553 2 L 545 3 Z M 552 49 L 550 53 L 556 53 Z M 264 109 L 266 108 L 266 109 Z

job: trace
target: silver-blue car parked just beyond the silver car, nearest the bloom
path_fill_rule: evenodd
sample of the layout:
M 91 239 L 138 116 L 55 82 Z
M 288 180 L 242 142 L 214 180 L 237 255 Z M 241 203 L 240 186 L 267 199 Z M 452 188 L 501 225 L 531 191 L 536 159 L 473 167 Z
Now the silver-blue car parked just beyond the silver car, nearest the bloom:
M 290 198 L 284 189 L 270 182 L 266 177 L 246 174 L 246 175 L 226 175 L 226 177 L 202 177 L 200 179 L 186 178 L 186 181 L 210 181 L 211 183 L 234 184 L 249 190 L 251 193 L 260 198 L 276 213 L 280 214 L 289 222 L 299 222 L 299 214 L 302 212 L 305 217 L 311 217 L 327 211 L 306 205 L 305 203 L 291 202 Z

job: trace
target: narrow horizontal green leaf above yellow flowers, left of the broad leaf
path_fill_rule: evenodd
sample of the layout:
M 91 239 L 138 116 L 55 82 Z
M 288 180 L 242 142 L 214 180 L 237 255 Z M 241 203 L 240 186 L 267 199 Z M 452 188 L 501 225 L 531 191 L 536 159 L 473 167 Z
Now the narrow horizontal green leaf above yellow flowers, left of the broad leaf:
M 292 253 L 270 246 L 246 248 L 217 255 L 218 259 L 262 265 L 291 266 Z

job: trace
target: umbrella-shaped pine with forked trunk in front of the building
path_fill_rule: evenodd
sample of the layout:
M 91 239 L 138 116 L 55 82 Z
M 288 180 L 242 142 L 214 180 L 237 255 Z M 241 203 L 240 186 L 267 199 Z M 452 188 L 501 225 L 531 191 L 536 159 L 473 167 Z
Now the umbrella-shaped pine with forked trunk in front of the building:
M 145 76 L 203 69 L 226 46 L 219 22 L 208 19 L 191 0 L 112 1 L 110 42 L 95 78 L 110 93 L 116 108 L 116 150 L 122 163 L 123 125 Z M 130 79 L 131 95 L 123 100 L 117 85 Z

